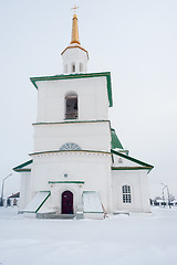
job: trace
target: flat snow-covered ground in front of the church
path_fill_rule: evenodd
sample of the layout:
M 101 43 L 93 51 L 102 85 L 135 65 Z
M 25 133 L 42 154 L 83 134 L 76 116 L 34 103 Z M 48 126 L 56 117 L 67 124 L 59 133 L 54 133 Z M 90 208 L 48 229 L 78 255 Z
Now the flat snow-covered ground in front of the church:
M 63 221 L 0 208 L 0 264 L 176 265 L 177 209 Z

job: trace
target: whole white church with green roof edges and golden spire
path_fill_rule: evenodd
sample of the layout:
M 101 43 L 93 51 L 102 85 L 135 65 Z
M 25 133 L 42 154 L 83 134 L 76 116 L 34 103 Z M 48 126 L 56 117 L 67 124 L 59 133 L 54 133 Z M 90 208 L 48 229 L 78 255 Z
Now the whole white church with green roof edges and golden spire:
M 112 128 L 111 73 L 87 72 L 75 11 L 61 56 L 62 74 L 30 78 L 38 117 L 30 160 L 13 168 L 21 173 L 19 212 L 76 219 L 150 212 L 153 166 L 131 157 Z

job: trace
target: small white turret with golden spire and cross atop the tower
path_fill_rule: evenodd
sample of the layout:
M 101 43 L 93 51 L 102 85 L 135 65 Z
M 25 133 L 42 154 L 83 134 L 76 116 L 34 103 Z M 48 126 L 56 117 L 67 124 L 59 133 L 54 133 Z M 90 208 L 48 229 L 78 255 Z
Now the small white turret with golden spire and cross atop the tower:
M 87 61 L 88 53 L 85 49 L 81 46 L 79 39 L 79 19 L 74 6 L 74 14 L 72 19 L 72 34 L 70 45 L 64 49 L 61 53 L 63 60 L 63 73 L 74 74 L 74 73 L 86 73 L 87 72 Z

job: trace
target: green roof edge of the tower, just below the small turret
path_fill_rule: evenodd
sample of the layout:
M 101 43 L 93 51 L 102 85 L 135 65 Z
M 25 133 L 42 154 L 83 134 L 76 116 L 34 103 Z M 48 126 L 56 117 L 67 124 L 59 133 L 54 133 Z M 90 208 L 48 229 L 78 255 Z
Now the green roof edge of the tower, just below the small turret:
M 113 97 L 112 97 L 112 82 L 111 82 L 111 73 L 110 72 L 31 77 L 30 81 L 38 89 L 38 85 L 37 85 L 38 81 L 75 80 L 75 78 L 90 78 L 90 77 L 100 77 L 100 76 L 105 76 L 107 80 L 108 102 L 110 102 L 110 107 L 112 107 L 113 106 Z

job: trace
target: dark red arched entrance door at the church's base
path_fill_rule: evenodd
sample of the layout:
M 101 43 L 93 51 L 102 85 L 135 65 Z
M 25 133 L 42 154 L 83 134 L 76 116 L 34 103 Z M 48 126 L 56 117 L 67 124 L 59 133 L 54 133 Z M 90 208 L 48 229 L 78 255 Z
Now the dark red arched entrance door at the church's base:
M 62 193 L 62 214 L 73 213 L 73 193 L 71 191 L 64 191 Z

